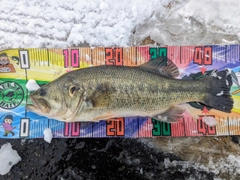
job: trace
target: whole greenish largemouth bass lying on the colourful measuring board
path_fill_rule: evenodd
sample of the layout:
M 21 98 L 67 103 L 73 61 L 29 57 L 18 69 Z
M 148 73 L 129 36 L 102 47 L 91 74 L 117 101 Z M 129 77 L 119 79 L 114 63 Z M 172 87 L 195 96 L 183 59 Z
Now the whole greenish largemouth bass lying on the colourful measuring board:
M 66 73 L 30 94 L 27 109 L 65 122 L 100 121 L 142 116 L 174 122 L 185 109 L 201 102 L 231 112 L 228 70 L 200 80 L 179 80 L 177 66 L 160 57 L 137 66 L 97 66 Z

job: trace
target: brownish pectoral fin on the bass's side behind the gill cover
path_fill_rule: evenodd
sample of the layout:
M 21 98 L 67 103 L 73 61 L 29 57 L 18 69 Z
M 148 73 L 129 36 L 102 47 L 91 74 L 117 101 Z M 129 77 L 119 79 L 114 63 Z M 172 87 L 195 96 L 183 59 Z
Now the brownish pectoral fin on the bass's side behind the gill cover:
M 86 98 L 86 101 L 92 103 L 92 108 L 108 107 L 115 93 L 115 88 L 109 83 L 103 83 L 98 85 L 93 93 Z

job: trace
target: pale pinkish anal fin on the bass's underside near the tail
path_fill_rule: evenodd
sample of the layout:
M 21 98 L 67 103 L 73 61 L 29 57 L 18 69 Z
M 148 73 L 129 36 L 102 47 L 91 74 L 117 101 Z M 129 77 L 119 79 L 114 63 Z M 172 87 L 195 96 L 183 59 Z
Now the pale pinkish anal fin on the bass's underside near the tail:
M 183 113 L 185 112 L 185 108 L 179 105 L 171 106 L 165 112 L 158 114 L 153 119 L 163 121 L 163 122 L 178 122 L 179 119 L 183 118 Z

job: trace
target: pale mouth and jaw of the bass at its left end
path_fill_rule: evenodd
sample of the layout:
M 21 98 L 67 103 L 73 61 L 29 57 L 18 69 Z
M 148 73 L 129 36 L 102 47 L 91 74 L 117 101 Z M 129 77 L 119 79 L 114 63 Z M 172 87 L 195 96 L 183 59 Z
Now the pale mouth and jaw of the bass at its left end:
M 30 99 L 33 104 L 27 104 L 26 108 L 30 111 L 36 112 L 36 113 L 49 113 L 51 108 L 49 103 L 44 99 L 35 99 L 32 96 L 30 96 Z

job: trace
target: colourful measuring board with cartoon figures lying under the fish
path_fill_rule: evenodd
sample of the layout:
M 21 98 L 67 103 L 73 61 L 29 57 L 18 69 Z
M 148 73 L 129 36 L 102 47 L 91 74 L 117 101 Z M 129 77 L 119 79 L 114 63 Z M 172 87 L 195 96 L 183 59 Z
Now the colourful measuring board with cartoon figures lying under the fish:
M 41 86 L 79 68 L 138 66 L 158 56 L 166 56 L 178 66 L 179 79 L 199 79 L 214 70 L 231 69 L 235 77 L 231 87 L 232 112 L 186 103 L 184 117 L 172 124 L 144 117 L 64 123 L 25 109 L 31 103 L 25 87 L 29 79 Z M 0 51 L 0 138 L 42 138 L 45 128 L 51 128 L 54 138 L 240 135 L 239 78 L 240 45 L 3 50 Z M 203 117 L 215 118 L 217 125 L 210 127 Z

